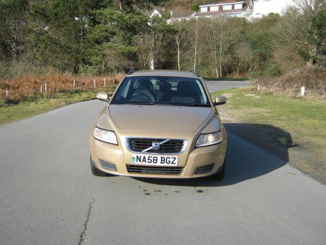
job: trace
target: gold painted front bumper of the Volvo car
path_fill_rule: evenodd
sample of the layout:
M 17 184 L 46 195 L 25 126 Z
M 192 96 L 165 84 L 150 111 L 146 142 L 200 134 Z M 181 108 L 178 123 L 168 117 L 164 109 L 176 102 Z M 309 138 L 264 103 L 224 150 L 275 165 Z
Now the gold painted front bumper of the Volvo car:
M 131 164 L 131 153 L 127 150 L 122 137 L 119 145 L 105 143 L 96 140 L 93 135 L 90 136 L 90 150 L 92 164 L 101 171 L 120 176 L 130 177 L 146 177 L 146 178 L 171 178 L 171 179 L 187 179 L 199 178 L 212 175 L 219 171 L 223 165 L 227 138 L 223 128 L 224 140 L 216 145 L 194 148 L 194 142 L 188 139 L 186 151 L 178 156 L 178 167 L 182 167 L 180 174 L 152 174 L 152 173 L 133 173 L 129 170 L 128 164 Z M 190 142 L 189 142 L 190 141 Z M 148 154 L 151 155 L 151 154 Z M 108 170 L 100 164 L 100 160 L 115 164 L 117 171 Z M 197 167 L 213 164 L 211 171 L 205 174 L 195 174 Z

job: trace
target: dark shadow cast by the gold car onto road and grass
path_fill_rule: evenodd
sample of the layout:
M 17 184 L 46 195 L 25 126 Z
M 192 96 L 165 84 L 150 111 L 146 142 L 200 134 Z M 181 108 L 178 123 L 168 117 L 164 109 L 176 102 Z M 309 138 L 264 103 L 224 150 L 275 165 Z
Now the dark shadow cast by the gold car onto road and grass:
M 292 144 L 291 135 L 287 131 L 271 125 L 224 124 L 224 126 L 228 131 L 227 165 L 224 180 L 211 181 L 206 178 L 135 179 L 155 185 L 195 187 L 233 185 L 266 175 L 284 166 L 289 160 L 288 149 L 297 146 Z

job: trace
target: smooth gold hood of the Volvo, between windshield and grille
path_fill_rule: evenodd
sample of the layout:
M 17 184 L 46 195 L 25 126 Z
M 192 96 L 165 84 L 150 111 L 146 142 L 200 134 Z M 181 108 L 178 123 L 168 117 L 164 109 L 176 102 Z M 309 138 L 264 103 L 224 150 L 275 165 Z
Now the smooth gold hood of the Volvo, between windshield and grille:
M 108 112 L 120 130 L 194 132 L 209 117 L 212 108 L 110 105 Z

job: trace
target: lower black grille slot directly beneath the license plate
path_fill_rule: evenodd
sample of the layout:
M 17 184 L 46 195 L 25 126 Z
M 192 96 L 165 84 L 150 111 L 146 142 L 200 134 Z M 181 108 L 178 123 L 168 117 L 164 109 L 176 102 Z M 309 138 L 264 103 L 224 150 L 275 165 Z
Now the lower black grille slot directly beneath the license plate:
M 182 167 L 154 167 L 127 165 L 130 173 L 154 174 L 154 175 L 179 175 Z

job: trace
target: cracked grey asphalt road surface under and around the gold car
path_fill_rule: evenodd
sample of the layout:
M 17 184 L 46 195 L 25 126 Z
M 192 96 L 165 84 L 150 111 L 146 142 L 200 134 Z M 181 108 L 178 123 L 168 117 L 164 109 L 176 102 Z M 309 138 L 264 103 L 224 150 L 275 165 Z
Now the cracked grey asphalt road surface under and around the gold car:
M 232 133 L 221 182 L 92 176 L 104 106 L 0 127 L 0 244 L 325 244 L 326 186 Z

